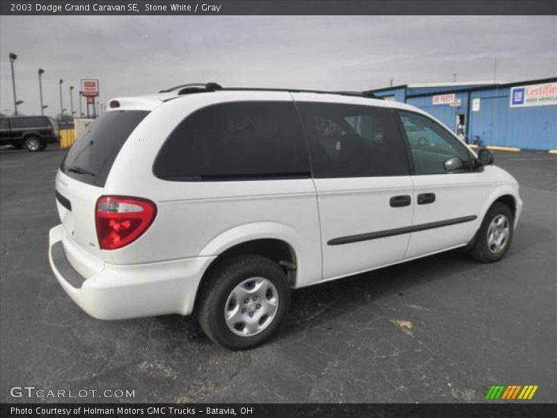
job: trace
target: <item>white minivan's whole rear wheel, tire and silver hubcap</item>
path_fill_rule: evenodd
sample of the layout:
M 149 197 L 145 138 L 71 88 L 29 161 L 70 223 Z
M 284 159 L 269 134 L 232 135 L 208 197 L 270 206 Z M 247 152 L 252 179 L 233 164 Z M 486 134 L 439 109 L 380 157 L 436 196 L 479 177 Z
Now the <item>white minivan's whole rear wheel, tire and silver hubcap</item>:
M 206 279 L 196 313 L 205 334 L 219 346 L 245 350 L 260 345 L 290 307 L 286 274 L 268 258 L 229 258 Z

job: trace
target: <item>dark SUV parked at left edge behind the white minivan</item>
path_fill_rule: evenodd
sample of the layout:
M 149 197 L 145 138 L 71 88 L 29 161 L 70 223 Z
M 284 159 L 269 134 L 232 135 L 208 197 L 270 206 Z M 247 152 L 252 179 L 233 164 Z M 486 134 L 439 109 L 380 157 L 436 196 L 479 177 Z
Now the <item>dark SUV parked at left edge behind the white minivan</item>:
M 0 145 L 26 148 L 32 153 L 58 141 L 58 125 L 47 116 L 14 116 L 0 118 Z

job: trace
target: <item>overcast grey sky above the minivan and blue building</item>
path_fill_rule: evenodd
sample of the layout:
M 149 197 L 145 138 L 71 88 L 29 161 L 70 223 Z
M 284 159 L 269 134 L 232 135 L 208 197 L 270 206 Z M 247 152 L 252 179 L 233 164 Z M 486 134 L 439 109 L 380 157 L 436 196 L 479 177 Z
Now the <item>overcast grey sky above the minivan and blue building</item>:
M 187 82 L 366 90 L 394 84 L 557 76 L 555 16 L 15 16 L 0 17 L 0 111 L 58 114 L 81 78 L 100 100 Z

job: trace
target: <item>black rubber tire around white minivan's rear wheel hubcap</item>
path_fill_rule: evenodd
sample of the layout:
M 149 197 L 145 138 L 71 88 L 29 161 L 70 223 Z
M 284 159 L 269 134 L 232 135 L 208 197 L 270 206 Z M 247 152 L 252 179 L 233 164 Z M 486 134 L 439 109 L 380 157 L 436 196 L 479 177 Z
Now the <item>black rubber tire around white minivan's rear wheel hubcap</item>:
M 208 274 L 208 277 L 205 278 L 204 284 L 200 289 L 198 305 L 196 307 L 196 315 L 205 334 L 219 346 L 232 350 L 253 348 L 269 339 L 281 325 L 290 307 L 290 285 L 288 284 L 288 279 L 283 270 L 268 258 L 256 254 L 246 254 L 227 258 L 210 270 Z M 237 301 L 233 299 L 229 301 L 229 297 L 232 297 L 231 294 L 233 290 L 244 281 L 251 278 L 267 279 L 267 281 L 270 281 L 272 285 L 274 285 L 274 291 L 276 291 L 277 297 L 276 311 L 274 311 L 274 316 L 262 330 L 257 331 L 256 334 L 251 336 L 240 336 L 235 334 L 235 332 L 228 327 L 225 319 L 225 312 L 226 309 L 230 309 L 230 307 L 232 309 L 235 308 L 235 303 Z M 271 291 L 270 294 L 272 295 L 274 291 Z M 266 293 L 265 297 L 267 297 L 267 295 L 269 295 L 269 293 Z M 229 303 L 227 304 L 227 302 Z M 251 300 L 250 304 L 253 305 Z M 244 314 L 246 310 L 245 307 L 247 306 L 247 304 L 244 304 L 244 300 L 242 300 L 238 302 L 237 310 L 240 311 L 242 315 L 250 314 L 250 318 L 258 318 L 258 311 L 255 311 L 255 306 L 247 308 L 251 309 L 251 311 L 246 311 Z M 261 307 L 261 305 L 258 306 Z M 265 323 L 264 317 L 265 315 L 262 315 L 260 319 L 263 319 Z M 242 316 L 242 318 L 249 320 L 245 316 Z M 237 325 L 242 327 L 241 322 L 237 323 Z M 237 332 L 242 332 L 242 329 Z

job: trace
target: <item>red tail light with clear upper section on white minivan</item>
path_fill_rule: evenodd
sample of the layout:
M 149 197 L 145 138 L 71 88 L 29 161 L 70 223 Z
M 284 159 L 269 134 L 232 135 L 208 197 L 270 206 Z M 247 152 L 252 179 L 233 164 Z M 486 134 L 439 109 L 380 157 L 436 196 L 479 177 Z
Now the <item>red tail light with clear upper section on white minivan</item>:
M 101 196 L 95 210 L 101 249 L 117 249 L 134 242 L 152 224 L 157 205 L 147 199 Z

